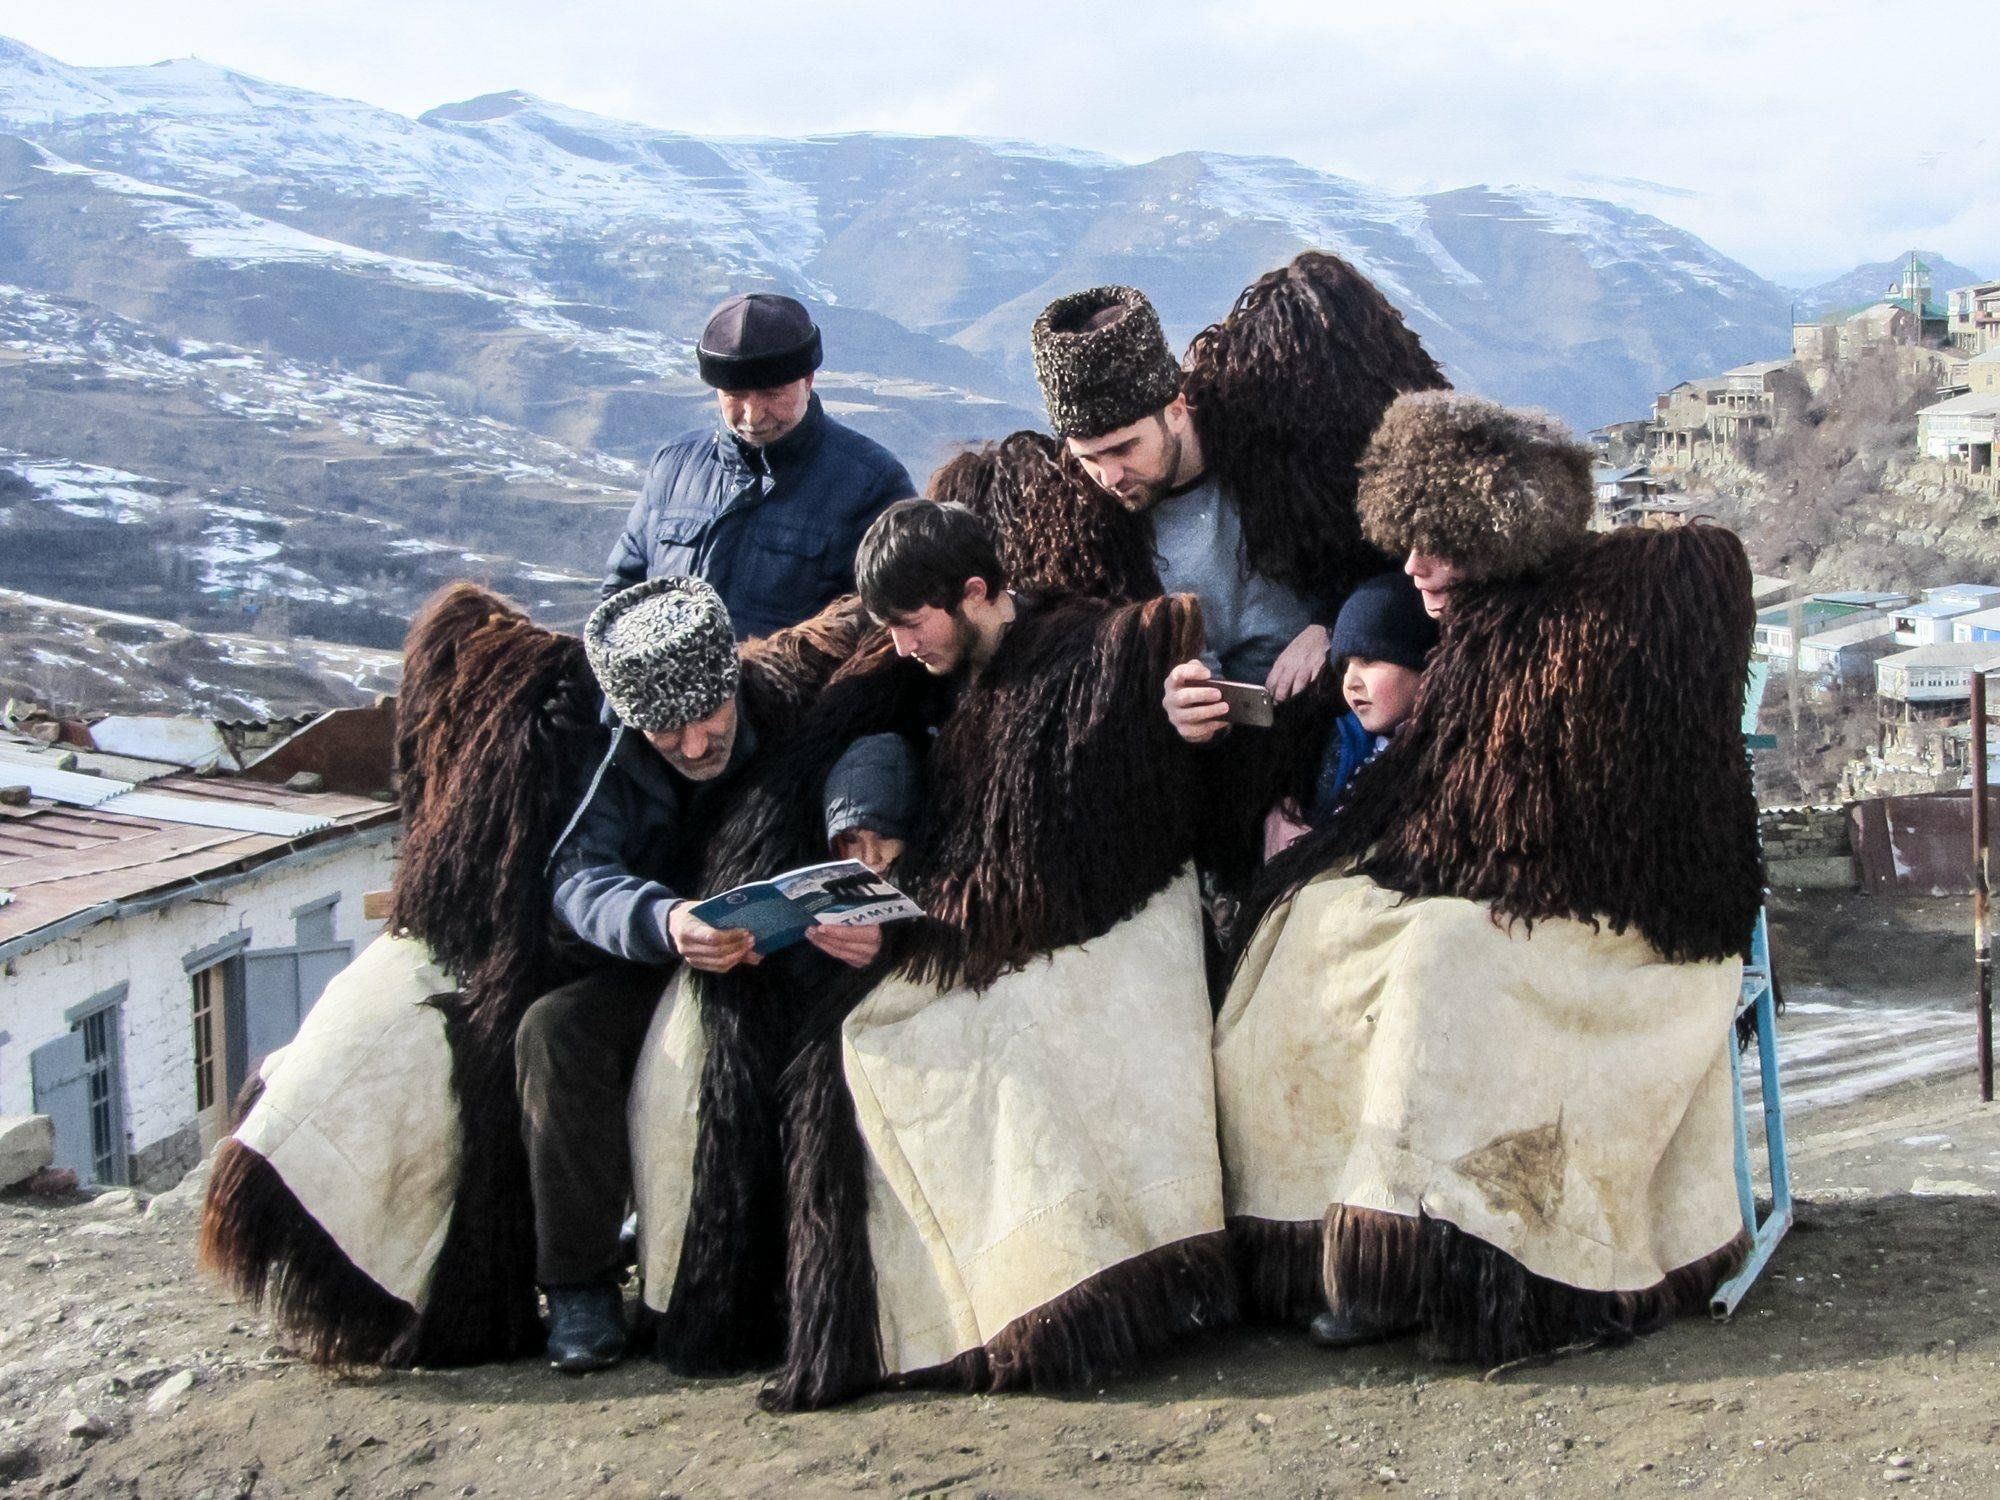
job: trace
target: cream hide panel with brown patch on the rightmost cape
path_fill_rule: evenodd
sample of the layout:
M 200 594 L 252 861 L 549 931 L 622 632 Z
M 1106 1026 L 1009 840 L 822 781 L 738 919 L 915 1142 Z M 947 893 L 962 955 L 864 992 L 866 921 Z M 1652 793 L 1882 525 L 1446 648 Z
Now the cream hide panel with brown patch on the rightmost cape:
M 1264 918 L 1216 1020 L 1228 1212 L 1424 1212 L 1568 1286 L 1654 1286 L 1742 1228 L 1740 978 L 1320 876 Z

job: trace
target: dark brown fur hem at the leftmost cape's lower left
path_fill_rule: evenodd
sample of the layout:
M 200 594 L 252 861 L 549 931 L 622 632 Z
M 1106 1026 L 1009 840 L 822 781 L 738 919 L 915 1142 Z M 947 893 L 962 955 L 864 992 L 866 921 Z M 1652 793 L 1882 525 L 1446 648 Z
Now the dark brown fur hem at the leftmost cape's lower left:
M 278 1168 L 236 1140 L 216 1148 L 196 1256 L 314 1364 L 380 1364 L 416 1326 L 416 1310 L 358 1270 Z

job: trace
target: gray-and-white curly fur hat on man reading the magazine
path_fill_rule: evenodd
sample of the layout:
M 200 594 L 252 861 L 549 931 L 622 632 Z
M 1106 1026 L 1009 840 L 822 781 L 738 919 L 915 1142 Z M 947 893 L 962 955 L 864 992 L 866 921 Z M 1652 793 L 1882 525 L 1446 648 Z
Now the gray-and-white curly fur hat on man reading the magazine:
M 584 652 L 622 724 L 678 730 L 736 696 L 730 612 L 700 578 L 648 578 L 584 624 Z

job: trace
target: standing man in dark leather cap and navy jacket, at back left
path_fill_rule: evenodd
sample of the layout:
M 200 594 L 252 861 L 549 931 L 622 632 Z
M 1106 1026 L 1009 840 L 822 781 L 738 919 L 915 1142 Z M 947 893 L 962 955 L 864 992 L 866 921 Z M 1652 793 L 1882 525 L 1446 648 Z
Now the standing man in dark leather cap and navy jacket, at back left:
M 652 458 L 604 598 L 666 574 L 708 580 L 736 636 L 768 636 L 854 592 L 854 548 L 910 474 L 812 394 L 820 330 L 776 292 L 732 296 L 708 318 L 696 364 L 722 420 Z

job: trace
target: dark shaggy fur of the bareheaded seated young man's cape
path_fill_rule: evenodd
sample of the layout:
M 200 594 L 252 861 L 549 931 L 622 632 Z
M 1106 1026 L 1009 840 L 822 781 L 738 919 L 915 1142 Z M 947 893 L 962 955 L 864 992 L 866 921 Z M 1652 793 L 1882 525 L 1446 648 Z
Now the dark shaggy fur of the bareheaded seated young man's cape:
M 1194 848 L 1196 782 L 1158 684 L 1200 646 L 1200 616 L 1184 598 L 1116 608 L 1062 598 L 1026 612 L 928 746 L 922 814 L 892 870 L 928 918 L 890 928 L 870 970 L 806 956 L 700 976 L 708 1052 L 692 1206 L 658 1330 L 672 1368 L 782 1360 L 766 1392 L 778 1408 L 882 1384 L 864 1148 L 840 1022 L 888 974 L 984 988 L 1104 934 L 1174 880 Z M 860 734 L 928 738 L 934 704 L 936 684 L 898 660 L 886 634 L 866 642 L 792 748 L 760 768 L 714 846 L 712 884 L 824 858 L 820 792 L 832 760 Z M 1162 1306 L 1200 1304 L 1212 1318 L 1230 1300 L 1220 1244 L 1150 1274 L 1180 1290 L 1094 1288 L 1046 1318 L 1040 1342 L 1004 1360 L 1006 1376 L 982 1354 L 938 1378 L 1074 1384 L 1180 1332 Z

